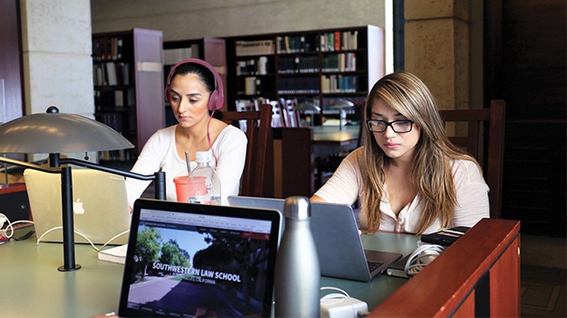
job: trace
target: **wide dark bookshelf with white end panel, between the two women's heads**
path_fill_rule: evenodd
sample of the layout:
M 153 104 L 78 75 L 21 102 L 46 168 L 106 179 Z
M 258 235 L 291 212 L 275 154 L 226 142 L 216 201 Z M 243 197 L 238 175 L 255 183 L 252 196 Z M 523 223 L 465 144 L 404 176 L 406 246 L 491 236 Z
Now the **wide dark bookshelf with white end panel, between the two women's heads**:
M 229 37 L 227 99 L 297 99 L 338 115 L 332 105 L 361 104 L 384 76 L 384 31 L 378 26 Z

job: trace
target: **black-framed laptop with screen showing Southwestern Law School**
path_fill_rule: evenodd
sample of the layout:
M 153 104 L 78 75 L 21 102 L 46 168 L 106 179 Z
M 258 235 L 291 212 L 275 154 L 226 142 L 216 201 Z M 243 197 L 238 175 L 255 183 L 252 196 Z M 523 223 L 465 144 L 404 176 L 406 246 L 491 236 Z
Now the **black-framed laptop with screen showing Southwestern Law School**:
M 138 199 L 120 317 L 270 317 L 281 214 Z

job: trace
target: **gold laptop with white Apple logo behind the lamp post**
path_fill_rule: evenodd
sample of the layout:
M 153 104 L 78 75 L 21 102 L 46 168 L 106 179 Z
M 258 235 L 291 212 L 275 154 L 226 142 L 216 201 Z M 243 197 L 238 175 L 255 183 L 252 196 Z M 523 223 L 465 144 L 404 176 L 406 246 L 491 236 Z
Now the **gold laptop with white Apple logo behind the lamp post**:
M 75 231 L 95 244 L 104 244 L 128 231 L 130 214 L 124 177 L 93 169 L 73 168 L 71 171 Z M 26 169 L 24 178 L 37 238 L 41 238 L 41 242 L 62 242 L 61 228 L 50 231 L 62 225 L 61 175 Z M 76 232 L 75 243 L 89 243 Z M 126 232 L 110 244 L 123 245 L 127 241 Z

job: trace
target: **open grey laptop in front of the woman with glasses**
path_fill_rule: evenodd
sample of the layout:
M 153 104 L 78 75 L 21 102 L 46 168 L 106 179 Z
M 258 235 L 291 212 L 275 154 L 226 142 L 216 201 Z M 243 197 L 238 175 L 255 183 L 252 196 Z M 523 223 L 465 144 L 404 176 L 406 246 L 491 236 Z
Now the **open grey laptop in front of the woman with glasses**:
M 235 206 L 278 209 L 283 213 L 283 199 L 229 196 L 228 202 Z M 323 276 L 370 281 L 402 257 L 399 253 L 364 250 L 349 205 L 311 203 L 310 227 Z

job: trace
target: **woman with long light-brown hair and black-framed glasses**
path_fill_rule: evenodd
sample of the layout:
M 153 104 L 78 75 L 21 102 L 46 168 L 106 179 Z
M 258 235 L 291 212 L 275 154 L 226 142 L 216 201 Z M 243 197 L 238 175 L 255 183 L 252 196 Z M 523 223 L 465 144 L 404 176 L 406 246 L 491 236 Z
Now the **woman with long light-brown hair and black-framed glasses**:
M 350 153 L 311 200 L 359 200 L 359 226 L 370 234 L 427 234 L 489 217 L 478 163 L 449 141 L 434 97 L 418 77 L 399 72 L 380 79 L 364 106 L 364 122 L 364 147 Z

